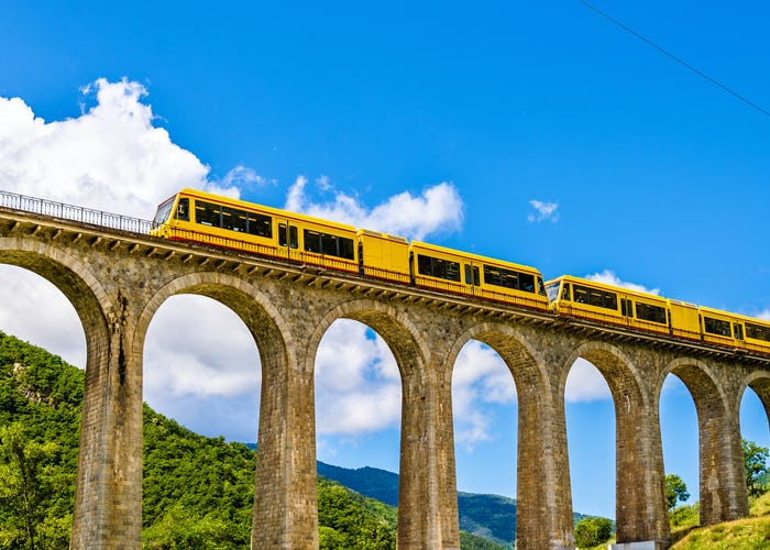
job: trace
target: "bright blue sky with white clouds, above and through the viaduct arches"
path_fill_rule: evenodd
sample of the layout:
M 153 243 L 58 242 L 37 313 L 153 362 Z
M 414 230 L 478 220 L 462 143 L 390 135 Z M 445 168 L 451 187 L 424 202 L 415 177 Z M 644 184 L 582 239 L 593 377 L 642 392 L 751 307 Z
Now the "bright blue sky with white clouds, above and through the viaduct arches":
M 770 110 L 766 2 L 593 4 Z M 0 189 L 150 218 L 174 189 L 206 187 L 763 317 L 769 130 L 579 0 L 10 0 L 0 19 Z M 82 364 L 64 298 L 19 270 L 0 280 L 0 329 Z M 42 304 L 45 319 L 24 314 Z M 191 308 L 220 317 L 174 330 Z M 250 440 L 258 359 L 233 317 L 204 298 L 164 305 L 145 399 Z M 227 355 L 194 345 L 221 341 L 221 327 Z M 334 342 L 351 336 L 340 360 Z M 361 326 L 327 334 L 320 460 L 397 469 L 388 353 Z M 488 349 L 464 350 L 454 400 L 459 488 L 515 496 L 515 391 Z M 744 402 L 745 437 L 770 444 L 758 399 Z M 566 407 L 574 508 L 614 517 L 613 406 L 592 367 L 573 370 Z M 675 378 L 661 418 L 667 471 L 695 499 L 695 411 Z

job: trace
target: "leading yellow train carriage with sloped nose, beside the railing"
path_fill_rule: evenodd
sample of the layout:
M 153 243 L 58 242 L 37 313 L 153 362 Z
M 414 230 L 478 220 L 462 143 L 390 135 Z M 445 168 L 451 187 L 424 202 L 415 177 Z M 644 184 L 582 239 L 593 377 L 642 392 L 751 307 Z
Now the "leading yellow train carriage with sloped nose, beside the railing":
M 157 208 L 153 226 L 167 239 L 359 272 L 355 228 L 209 193 L 183 189 Z

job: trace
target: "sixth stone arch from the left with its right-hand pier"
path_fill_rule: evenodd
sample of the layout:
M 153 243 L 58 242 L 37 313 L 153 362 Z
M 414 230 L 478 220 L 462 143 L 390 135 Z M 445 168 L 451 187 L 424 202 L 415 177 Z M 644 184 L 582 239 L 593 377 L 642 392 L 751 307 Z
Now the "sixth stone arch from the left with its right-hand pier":
M 658 403 L 669 374 L 685 385 L 697 414 L 701 525 L 745 516 L 748 497 L 738 420 L 740 397 L 730 399 L 706 363 L 678 358 L 666 366 L 657 381 Z

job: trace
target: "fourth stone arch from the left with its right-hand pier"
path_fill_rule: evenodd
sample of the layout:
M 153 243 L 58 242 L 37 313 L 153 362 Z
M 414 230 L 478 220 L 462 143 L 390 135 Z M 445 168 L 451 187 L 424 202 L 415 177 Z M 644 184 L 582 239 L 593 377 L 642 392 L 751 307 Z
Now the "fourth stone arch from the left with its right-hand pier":
M 444 363 L 451 367 L 443 373 L 444 385 L 451 387 L 458 355 L 471 340 L 497 352 L 516 385 L 516 547 L 574 547 L 564 404 L 554 399 L 556 384 L 547 372 L 542 352 L 514 327 L 474 324 L 457 338 L 446 354 Z

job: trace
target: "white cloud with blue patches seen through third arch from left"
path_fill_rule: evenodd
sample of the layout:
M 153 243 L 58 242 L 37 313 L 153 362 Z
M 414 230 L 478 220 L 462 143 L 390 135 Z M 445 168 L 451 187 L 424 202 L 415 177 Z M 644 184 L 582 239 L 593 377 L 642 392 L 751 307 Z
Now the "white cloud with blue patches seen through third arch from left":
M 316 356 L 319 435 L 364 435 L 398 426 L 402 383 L 385 341 L 365 324 L 332 323 Z

